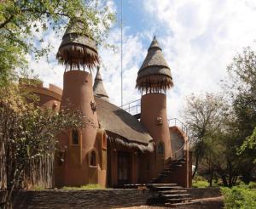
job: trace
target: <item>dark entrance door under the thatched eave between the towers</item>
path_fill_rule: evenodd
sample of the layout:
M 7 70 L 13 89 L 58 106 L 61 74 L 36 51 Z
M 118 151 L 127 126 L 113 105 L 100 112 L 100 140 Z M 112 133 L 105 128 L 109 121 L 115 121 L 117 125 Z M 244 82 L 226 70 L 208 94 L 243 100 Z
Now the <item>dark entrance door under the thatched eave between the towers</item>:
M 118 184 L 130 183 L 130 153 L 119 152 L 118 154 Z

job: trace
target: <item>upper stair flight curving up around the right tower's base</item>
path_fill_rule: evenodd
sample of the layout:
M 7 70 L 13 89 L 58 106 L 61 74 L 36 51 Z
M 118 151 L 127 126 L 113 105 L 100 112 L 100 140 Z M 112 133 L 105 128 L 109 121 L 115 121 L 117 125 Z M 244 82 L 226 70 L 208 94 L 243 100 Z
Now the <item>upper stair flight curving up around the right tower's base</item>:
M 156 178 L 153 178 L 150 180 L 149 184 L 157 184 L 157 183 L 161 183 L 161 181 L 170 176 L 172 174 L 172 172 L 177 168 L 177 167 L 183 167 L 183 165 L 185 164 L 185 159 L 179 159 L 179 160 L 174 160 L 171 161 L 170 163 L 168 163 L 166 165 L 166 167 L 164 168 L 164 170 L 162 172 L 160 172 L 158 174 L 158 176 Z

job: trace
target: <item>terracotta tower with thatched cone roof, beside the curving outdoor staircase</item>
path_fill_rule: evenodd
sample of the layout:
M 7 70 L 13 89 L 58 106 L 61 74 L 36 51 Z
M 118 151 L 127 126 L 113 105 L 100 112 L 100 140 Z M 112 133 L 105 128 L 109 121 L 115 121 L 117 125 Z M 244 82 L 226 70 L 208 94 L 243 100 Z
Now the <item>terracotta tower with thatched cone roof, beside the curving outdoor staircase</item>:
M 172 88 L 172 75 L 162 50 L 154 37 L 148 54 L 137 73 L 137 88 L 142 93 L 141 122 L 154 138 L 155 153 L 152 162 L 160 172 L 166 161 L 172 159 L 172 146 L 166 114 L 166 90 Z

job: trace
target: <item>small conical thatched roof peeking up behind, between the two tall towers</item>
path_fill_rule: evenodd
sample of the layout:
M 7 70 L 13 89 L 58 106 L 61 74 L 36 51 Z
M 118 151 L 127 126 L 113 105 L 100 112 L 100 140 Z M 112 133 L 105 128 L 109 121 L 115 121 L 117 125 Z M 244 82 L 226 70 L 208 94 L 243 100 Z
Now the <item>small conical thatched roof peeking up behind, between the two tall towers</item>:
M 94 93 L 94 95 L 96 95 L 96 97 L 109 102 L 108 93 L 106 92 L 103 82 L 102 82 L 100 67 L 97 67 L 97 73 L 96 73 L 96 77 L 95 77 L 94 84 L 93 84 L 93 93 Z

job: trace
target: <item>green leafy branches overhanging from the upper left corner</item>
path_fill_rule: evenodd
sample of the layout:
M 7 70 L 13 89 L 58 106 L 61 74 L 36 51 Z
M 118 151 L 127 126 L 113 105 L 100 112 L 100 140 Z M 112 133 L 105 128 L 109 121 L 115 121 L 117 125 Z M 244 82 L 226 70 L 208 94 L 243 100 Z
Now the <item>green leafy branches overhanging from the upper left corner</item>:
M 17 76 L 18 68 L 26 68 L 26 54 L 39 59 L 49 54 L 49 47 L 38 48 L 33 33 L 67 27 L 77 20 L 84 34 L 97 45 L 104 44 L 114 20 L 105 1 L 98 0 L 3 0 L 0 4 L 0 87 Z M 44 35 L 38 42 L 44 42 Z

